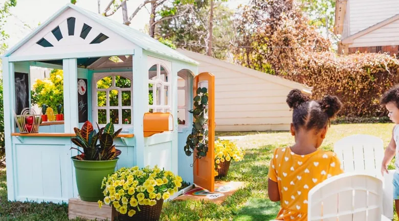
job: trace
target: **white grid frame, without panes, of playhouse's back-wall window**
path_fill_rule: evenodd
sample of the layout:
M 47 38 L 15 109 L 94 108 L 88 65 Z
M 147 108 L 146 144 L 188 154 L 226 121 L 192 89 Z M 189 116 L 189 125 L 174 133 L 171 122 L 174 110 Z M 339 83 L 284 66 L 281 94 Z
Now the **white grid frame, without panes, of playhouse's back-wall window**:
M 115 76 L 120 76 L 130 80 L 130 88 L 120 88 L 115 86 Z M 105 77 L 112 77 L 112 86 L 106 89 L 99 89 L 97 88 L 97 82 Z M 93 121 L 98 123 L 98 110 L 106 110 L 107 116 L 106 121 L 109 122 L 109 110 L 110 109 L 117 109 L 118 116 L 119 116 L 119 124 L 114 124 L 115 129 L 119 130 L 122 128 L 122 131 L 125 129 L 132 129 L 133 128 L 133 73 L 131 71 L 123 71 L 123 72 L 101 72 L 101 73 L 94 73 L 93 80 L 92 80 L 92 107 L 93 107 Z M 118 106 L 109 106 L 109 91 L 111 90 L 118 90 Z M 98 107 L 98 91 L 105 91 L 106 92 L 106 105 L 104 107 Z M 122 106 L 122 91 L 130 91 L 130 106 Z M 130 119 L 131 122 L 128 125 L 123 124 L 123 117 L 122 117 L 122 109 L 130 109 Z M 105 127 L 105 124 L 98 124 L 98 126 Z

